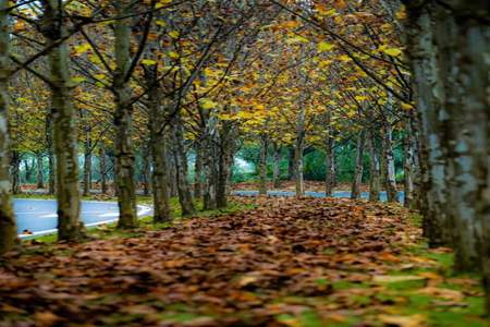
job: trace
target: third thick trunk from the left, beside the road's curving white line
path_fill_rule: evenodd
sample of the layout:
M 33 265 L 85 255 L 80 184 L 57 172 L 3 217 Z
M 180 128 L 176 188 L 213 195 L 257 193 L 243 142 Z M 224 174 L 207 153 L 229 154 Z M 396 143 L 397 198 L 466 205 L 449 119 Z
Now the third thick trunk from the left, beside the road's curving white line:
M 131 1 L 115 1 L 119 15 L 128 14 Z M 117 20 L 114 22 L 114 53 L 115 71 L 112 89 L 115 98 L 114 125 L 115 125 L 115 189 L 119 204 L 118 227 L 132 229 L 137 227 L 136 215 L 136 187 L 135 187 L 135 158 L 132 140 L 133 108 L 131 88 L 127 73 L 131 64 L 131 25 L 130 20 Z

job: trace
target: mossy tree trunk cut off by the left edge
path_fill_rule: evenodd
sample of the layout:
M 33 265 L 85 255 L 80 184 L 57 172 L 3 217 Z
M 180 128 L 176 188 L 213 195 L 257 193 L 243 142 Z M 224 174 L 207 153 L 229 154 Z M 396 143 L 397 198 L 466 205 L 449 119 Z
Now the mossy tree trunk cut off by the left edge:
M 17 228 L 10 201 L 9 177 L 9 15 L 8 0 L 0 0 L 0 254 L 15 245 Z

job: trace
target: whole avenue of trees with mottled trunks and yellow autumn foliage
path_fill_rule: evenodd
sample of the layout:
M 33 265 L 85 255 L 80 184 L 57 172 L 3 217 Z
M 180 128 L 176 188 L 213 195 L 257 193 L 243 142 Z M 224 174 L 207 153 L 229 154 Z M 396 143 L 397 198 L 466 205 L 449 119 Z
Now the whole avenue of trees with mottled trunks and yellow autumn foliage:
M 136 173 L 162 222 L 173 195 L 184 215 L 226 207 L 243 143 L 260 146 L 261 194 L 287 148 L 297 196 L 305 152 L 324 153 L 332 195 L 350 144 L 352 197 L 367 156 L 369 201 L 404 191 L 430 246 L 482 272 L 490 312 L 489 16 L 482 0 L 0 0 L 0 252 L 17 246 L 21 165 L 36 162 L 59 240 L 76 242 L 96 184 L 133 229 Z

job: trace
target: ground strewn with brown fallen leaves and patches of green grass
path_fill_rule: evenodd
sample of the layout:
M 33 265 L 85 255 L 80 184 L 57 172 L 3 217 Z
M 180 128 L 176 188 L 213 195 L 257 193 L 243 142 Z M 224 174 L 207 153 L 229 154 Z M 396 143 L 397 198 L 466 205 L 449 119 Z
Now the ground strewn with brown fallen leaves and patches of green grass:
M 414 216 L 346 199 L 253 210 L 0 264 L 0 326 L 488 326 L 478 280 Z

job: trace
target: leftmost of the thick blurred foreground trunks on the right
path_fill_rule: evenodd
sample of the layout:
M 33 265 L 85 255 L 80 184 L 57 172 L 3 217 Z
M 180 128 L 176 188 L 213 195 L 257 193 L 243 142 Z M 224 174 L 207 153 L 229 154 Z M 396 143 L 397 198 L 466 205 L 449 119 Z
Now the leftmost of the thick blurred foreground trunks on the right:
M 407 49 L 413 83 L 416 90 L 417 109 L 420 116 L 420 209 L 424 215 L 424 234 L 430 246 L 444 245 L 450 241 L 448 217 L 444 208 L 445 159 L 441 147 L 441 121 L 443 93 L 437 76 L 436 48 L 433 44 L 432 21 L 429 7 L 424 3 L 405 1 L 407 21 Z

